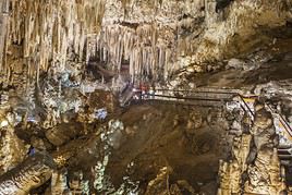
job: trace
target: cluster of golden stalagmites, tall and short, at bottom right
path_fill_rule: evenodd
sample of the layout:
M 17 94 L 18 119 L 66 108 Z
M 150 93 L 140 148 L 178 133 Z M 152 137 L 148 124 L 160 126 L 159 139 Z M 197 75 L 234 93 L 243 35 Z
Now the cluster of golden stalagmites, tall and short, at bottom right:
M 272 195 L 285 190 L 275 142 L 272 117 L 263 106 L 255 108 L 256 114 L 251 134 L 235 137 L 232 148 L 233 159 L 220 162 L 219 195 L 232 193 Z M 252 137 L 254 147 L 251 147 Z M 247 179 L 242 180 L 243 174 L 246 174 Z

